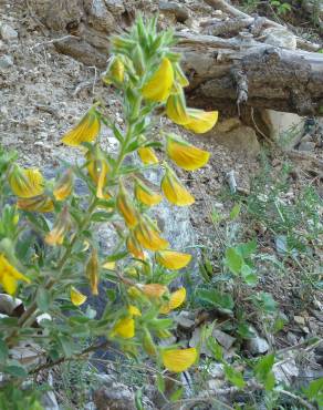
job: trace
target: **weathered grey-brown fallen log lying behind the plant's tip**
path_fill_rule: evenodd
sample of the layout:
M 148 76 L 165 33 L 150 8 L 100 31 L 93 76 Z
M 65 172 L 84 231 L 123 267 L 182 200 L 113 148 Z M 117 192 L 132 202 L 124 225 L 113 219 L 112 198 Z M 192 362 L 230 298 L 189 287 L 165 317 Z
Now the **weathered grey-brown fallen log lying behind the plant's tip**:
M 98 69 L 106 65 L 111 34 L 128 27 L 139 10 L 146 14 L 158 11 L 149 0 L 28 1 L 53 35 L 71 34 L 54 41 L 60 52 Z M 171 3 L 167 4 L 168 13 Z M 210 19 L 200 24 L 199 33 L 177 33 L 177 48 L 184 53 L 183 65 L 190 80 L 187 90 L 190 103 L 210 109 L 238 105 L 239 110 L 247 105 L 323 115 L 323 54 L 305 51 L 317 50 L 320 45 L 292 34 L 289 39 L 282 25 L 250 17 L 225 0 L 206 3 L 227 13 L 229 20 Z M 179 4 L 174 7 L 175 20 L 189 16 L 187 10 L 178 9 Z M 268 30 L 277 30 L 278 44 Z M 286 35 L 294 50 L 280 44 L 281 35 Z

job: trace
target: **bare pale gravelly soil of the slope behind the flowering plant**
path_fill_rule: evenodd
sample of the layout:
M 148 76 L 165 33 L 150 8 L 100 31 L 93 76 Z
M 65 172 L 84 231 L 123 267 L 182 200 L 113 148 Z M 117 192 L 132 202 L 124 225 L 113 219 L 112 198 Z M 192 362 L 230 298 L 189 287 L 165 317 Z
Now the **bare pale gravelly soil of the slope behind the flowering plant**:
M 11 28 L 11 34 L 10 30 L 8 34 L 8 29 L 6 34 L 3 27 Z M 117 96 L 113 90 L 102 85 L 101 73 L 94 66 L 84 66 L 59 54 L 43 25 L 24 7 L 0 0 L 0 143 L 8 150 L 18 151 L 21 164 L 54 168 L 61 160 L 74 161 L 77 153 L 64 146 L 61 137 L 83 115 L 96 95 L 107 95 L 111 114 L 123 123 Z M 310 133 L 303 132 L 303 142 L 312 144 L 311 151 L 305 152 L 310 160 L 282 153 L 279 148 L 268 154 L 272 173 L 278 176 L 286 161 L 294 166 L 290 194 L 285 201 L 293 201 L 300 189 L 308 185 L 313 185 L 321 198 L 323 196 L 322 173 L 312 173 L 311 157 L 316 162 L 323 161 L 323 132 L 317 122 L 314 123 Z M 197 199 L 190 214 L 197 243 L 217 252 L 216 230 L 225 227 L 215 227 L 210 215 L 213 209 L 228 215 L 235 203 L 228 195 L 228 173 L 233 172 L 238 193 L 248 196 L 250 183 L 261 170 L 259 154 L 264 147 L 268 150 L 268 146 L 263 145 L 261 137 L 257 140 L 254 131 L 241 127 L 237 121 L 229 129 L 228 123 L 219 124 L 205 136 L 194 136 L 178 130 L 165 119 L 160 125 L 166 130 L 180 132 L 183 136 L 212 153 L 205 168 L 194 174 L 183 173 L 181 176 Z M 239 135 L 236 135 L 237 129 L 240 130 Z M 228 141 L 222 139 L 219 143 L 217 133 L 223 130 L 228 131 Z M 103 144 L 107 148 L 113 148 L 115 144 L 107 130 L 103 132 Z M 250 221 L 241 219 L 240 223 L 241 237 L 248 238 Z M 220 235 L 223 237 L 225 233 L 220 232 Z M 260 229 L 258 239 L 264 254 L 278 256 L 272 236 Z M 319 254 L 317 257 L 320 258 Z M 312 300 L 302 303 L 299 269 L 293 267 L 288 276 L 277 277 L 264 268 L 261 286 L 281 303 L 291 320 L 285 332 L 279 336 L 278 346 L 286 347 L 302 342 L 310 336 L 323 336 L 322 293 L 313 290 Z

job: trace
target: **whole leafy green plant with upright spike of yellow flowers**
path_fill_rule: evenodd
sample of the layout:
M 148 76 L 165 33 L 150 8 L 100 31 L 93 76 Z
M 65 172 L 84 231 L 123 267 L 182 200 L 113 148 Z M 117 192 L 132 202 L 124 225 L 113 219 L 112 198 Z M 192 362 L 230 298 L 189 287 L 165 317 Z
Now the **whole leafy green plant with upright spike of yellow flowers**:
M 115 344 L 124 355 L 152 357 L 157 369 L 181 372 L 197 360 L 195 348 L 157 344 L 171 335 L 167 315 L 186 298 L 185 288 L 170 293 L 167 285 L 191 255 L 169 248 L 152 208 L 163 197 L 177 206 L 192 204 L 174 166 L 197 170 L 209 153 L 175 134 L 157 136 L 153 114 L 166 109 L 173 122 L 204 133 L 218 113 L 186 106 L 188 81 L 180 54 L 171 51 L 173 32 L 159 33 L 156 25 L 156 19 L 138 18 L 128 33 L 112 39 L 103 81 L 107 95 L 111 86 L 118 94 L 125 126 L 97 100 L 62 139 L 83 162 L 45 181 L 39 170 L 18 165 L 15 154 L 0 152 L 0 284 L 22 311 L 0 319 L 0 400 L 14 409 L 41 409 L 33 389 L 27 400 L 25 380 Z M 103 150 L 102 126 L 118 141 L 116 153 Z M 146 182 L 147 170 L 162 171 L 160 187 Z M 77 194 L 76 182 L 87 194 Z M 98 246 L 101 224 L 116 238 L 110 253 Z M 88 305 L 98 295 L 102 315 Z M 15 349 L 30 344 L 37 358 L 28 365 L 14 359 Z

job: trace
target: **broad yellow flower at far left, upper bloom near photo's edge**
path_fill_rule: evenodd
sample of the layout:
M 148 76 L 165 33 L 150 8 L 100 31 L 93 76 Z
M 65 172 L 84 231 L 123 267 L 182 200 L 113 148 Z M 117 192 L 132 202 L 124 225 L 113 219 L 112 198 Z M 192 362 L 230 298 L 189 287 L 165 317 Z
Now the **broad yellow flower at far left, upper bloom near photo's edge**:
M 14 195 L 31 198 L 44 191 L 44 180 L 39 170 L 22 170 L 15 165 L 9 175 L 9 184 Z

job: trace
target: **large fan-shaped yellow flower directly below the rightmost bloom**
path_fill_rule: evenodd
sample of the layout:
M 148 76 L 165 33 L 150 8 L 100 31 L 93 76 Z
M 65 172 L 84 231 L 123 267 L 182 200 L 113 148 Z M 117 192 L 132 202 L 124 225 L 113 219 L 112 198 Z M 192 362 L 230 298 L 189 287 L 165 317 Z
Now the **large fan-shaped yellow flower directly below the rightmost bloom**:
M 204 166 L 210 157 L 210 153 L 197 148 L 179 139 L 175 134 L 167 135 L 166 152 L 176 165 L 186 171 L 195 171 Z

